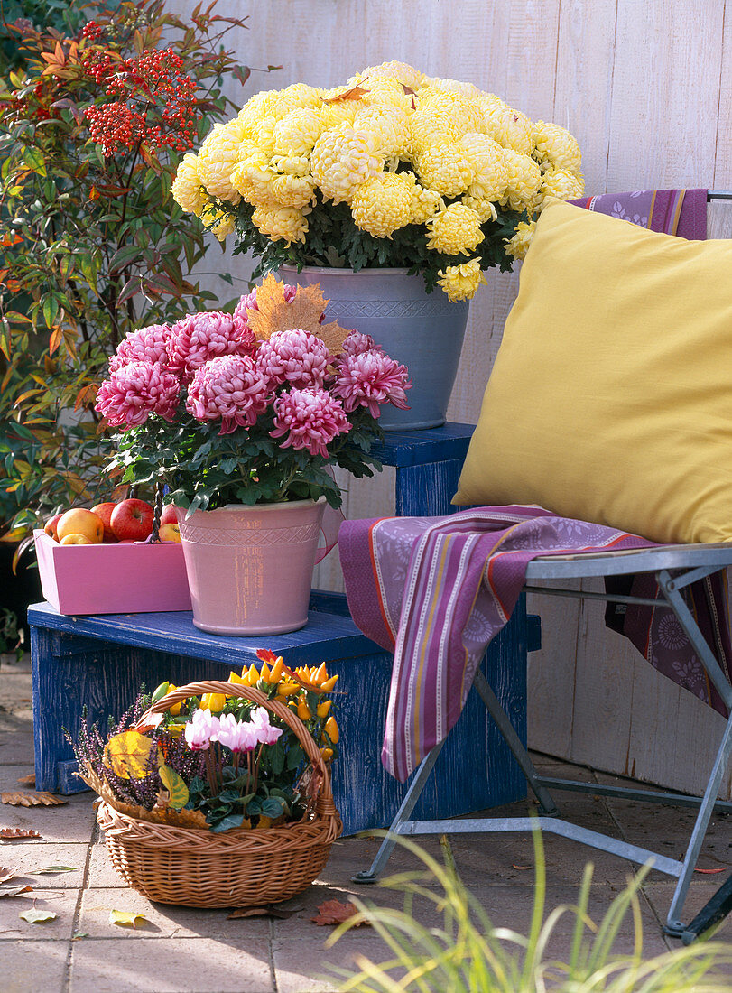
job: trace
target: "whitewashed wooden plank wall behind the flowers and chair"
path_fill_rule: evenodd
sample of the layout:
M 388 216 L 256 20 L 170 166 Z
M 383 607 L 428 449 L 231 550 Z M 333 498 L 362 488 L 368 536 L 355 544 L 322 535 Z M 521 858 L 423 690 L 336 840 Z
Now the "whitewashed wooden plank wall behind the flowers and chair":
M 170 5 L 185 13 L 194 0 Z M 732 0 L 220 0 L 218 9 L 249 16 L 242 63 L 282 66 L 254 72 L 243 88 L 232 84 L 239 103 L 295 81 L 332 86 L 396 59 L 470 80 L 534 119 L 568 127 L 583 150 L 588 193 L 732 187 Z M 732 234 L 723 207 L 712 223 L 718 235 Z M 248 275 L 240 256 L 221 257 L 214 247 L 210 259 L 212 270 Z M 457 421 L 478 416 L 516 293 L 517 273 L 488 278 L 471 306 L 449 410 Z M 231 295 L 225 286 L 221 293 Z M 388 513 L 392 498 L 393 475 L 384 472 L 352 484 L 345 509 L 353 517 Z M 317 582 L 339 588 L 334 555 Z M 531 744 L 697 789 L 712 748 L 706 709 L 604 632 L 597 609 L 547 600 L 544 647 L 529 671 Z

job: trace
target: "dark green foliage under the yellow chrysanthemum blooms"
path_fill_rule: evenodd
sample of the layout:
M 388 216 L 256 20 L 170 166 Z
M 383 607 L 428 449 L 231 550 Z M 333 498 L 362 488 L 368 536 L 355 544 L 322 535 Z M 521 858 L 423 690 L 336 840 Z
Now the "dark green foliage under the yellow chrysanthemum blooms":
M 455 203 L 447 201 L 446 203 Z M 421 273 L 427 292 L 437 285 L 439 270 L 450 265 L 461 265 L 464 255 L 444 255 L 427 247 L 423 224 L 408 224 L 394 231 L 390 238 L 375 238 L 356 226 L 347 204 L 325 204 L 320 191 L 317 203 L 308 214 L 308 233 L 304 242 L 270 241 L 251 222 L 254 208 L 242 201 L 237 207 L 223 201 L 217 207 L 234 218 L 237 244 L 234 252 L 252 252 L 259 259 L 253 277 L 274 272 L 281 265 L 304 265 L 334 268 L 408 268 L 411 275 Z M 526 213 L 508 210 L 499 212 L 495 221 L 483 225 L 486 237 L 474 257 L 481 259 L 483 269 L 498 265 L 502 272 L 512 267 L 512 258 L 506 254 L 504 239 L 512 237 L 519 220 L 527 220 Z

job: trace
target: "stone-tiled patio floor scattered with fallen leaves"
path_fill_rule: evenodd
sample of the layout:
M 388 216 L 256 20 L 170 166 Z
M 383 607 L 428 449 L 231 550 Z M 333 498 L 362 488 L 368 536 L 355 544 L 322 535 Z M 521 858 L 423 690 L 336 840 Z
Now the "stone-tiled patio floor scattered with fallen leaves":
M 33 772 L 31 677 L 27 660 L 0 659 L 0 790 L 15 790 L 17 780 Z M 568 767 L 536 756 L 546 775 L 618 782 L 615 777 L 584 767 Z M 287 920 L 244 918 L 229 920 L 228 911 L 201 911 L 151 904 L 126 888 L 115 875 L 95 826 L 93 794 L 79 793 L 58 807 L 0 807 L 0 826 L 33 827 L 39 840 L 0 842 L 0 865 L 17 869 L 18 880 L 33 893 L 0 902 L 0 961 L 4 993 L 306 993 L 337 988 L 327 977 L 329 963 L 353 964 L 354 955 L 376 961 L 389 957 L 374 931 L 362 927 L 326 949 L 330 927 L 311 922 L 326 900 L 348 901 L 352 894 L 378 904 L 401 907 L 402 898 L 390 890 L 357 887 L 351 877 L 366 868 L 375 852 L 373 838 L 336 842 L 330 861 L 306 893 L 288 906 Z M 692 814 L 685 808 L 649 807 L 599 796 L 562 793 L 562 812 L 590 828 L 616 832 L 641 845 L 657 844 L 671 857 L 681 856 Z M 502 808 L 520 815 L 526 803 Z M 494 811 L 495 812 L 495 811 Z M 655 842 L 654 842 L 655 839 Z M 462 835 L 451 839 L 464 882 L 479 898 L 492 922 L 527 929 L 533 894 L 533 850 L 526 836 Z M 439 857 L 437 839 L 426 841 Z M 582 849 L 560 838 L 545 838 L 547 913 L 573 903 L 585 859 L 595 865 L 590 914 L 598 920 L 633 871 L 630 863 L 602 852 Z M 414 866 L 408 853 L 397 852 L 390 868 Z M 73 866 L 73 872 L 26 875 L 47 866 Z M 732 868 L 732 829 L 729 817 L 715 816 L 699 862 L 703 870 Z M 385 875 L 388 875 L 386 873 Z M 684 919 L 691 916 L 725 879 L 724 873 L 696 874 Z M 652 873 L 642 896 L 647 957 L 678 942 L 661 933 L 673 882 Z M 57 918 L 27 923 L 22 911 L 35 906 Z M 140 913 L 147 919 L 136 930 L 109 922 L 111 910 Z M 435 921 L 431 905 L 417 903 L 423 922 Z M 616 943 L 619 953 L 632 949 L 632 922 L 625 923 Z M 559 923 L 549 951 L 561 957 L 569 946 L 571 918 Z M 732 940 L 732 923 L 718 937 Z

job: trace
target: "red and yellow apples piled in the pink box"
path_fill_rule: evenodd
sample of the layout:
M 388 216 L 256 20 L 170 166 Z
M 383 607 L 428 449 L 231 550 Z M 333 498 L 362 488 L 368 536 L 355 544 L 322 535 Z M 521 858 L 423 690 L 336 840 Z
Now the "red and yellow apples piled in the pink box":
M 129 497 L 118 503 L 97 503 L 90 510 L 73 507 L 47 521 L 44 531 L 62 545 L 131 545 L 145 541 L 153 530 L 155 511 L 144 499 Z M 163 507 L 158 531 L 161 541 L 181 540 L 172 503 Z

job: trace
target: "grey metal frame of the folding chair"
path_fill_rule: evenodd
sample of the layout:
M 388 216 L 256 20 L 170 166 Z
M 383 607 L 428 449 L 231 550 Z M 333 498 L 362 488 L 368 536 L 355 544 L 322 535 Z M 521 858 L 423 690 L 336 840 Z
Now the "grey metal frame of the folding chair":
M 712 193 L 709 199 L 732 200 L 732 192 Z M 579 554 L 568 556 L 546 556 L 536 558 L 526 570 L 524 590 L 529 593 L 549 596 L 579 597 L 590 600 L 603 600 L 623 604 L 647 604 L 657 608 L 668 607 L 689 638 L 693 648 L 704 665 L 709 679 L 730 711 L 730 718 L 722 735 L 716 759 L 709 773 L 704 795 L 687 796 L 682 793 L 659 790 L 633 789 L 625 786 L 604 786 L 596 783 L 575 780 L 555 780 L 539 776 L 530 757 L 523 747 L 506 712 L 501 707 L 488 680 L 480 667 L 476 672 L 474 686 L 482 697 L 491 717 L 506 739 L 520 766 L 528 785 L 539 804 L 538 817 L 489 817 L 461 818 L 459 820 L 409 820 L 414 805 L 427 781 L 442 744 L 434 748 L 424 759 L 409 785 L 409 789 L 394 817 L 389 834 L 384 838 L 371 866 L 354 877 L 355 883 L 374 883 L 388 860 L 397 835 L 443 834 L 469 832 L 511 832 L 527 831 L 538 826 L 554 834 L 582 842 L 592 848 L 620 855 L 631 862 L 645 864 L 653 861 L 654 869 L 676 878 L 677 883 L 668 910 L 664 930 L 674 937 L 681 937 L 685 943 L 703 933 L 712 922 L 718 922 L 732 909 L 732 882 L 728 881 L 696 916 L 685 926 L 680 918 L 688 893 L 691 876 L 714 809 L 732 812 L 732 802 L 717 800 L 719 786 L 727 769 L 732 752 L 732 685 L 722 671 L 709 644 L 701 634 L 691 611 L 680 591 L 696 580 L 711 576 L 732 566 L 732 544 L 665 545 L 659 548 L 637 551 L 604 552 L 599 554 Z M 584 590 L 562 589 L 540 585 L 547 580 L 566 581 L 569 579 L 605 578 L 607 576 L 627 576 L 636 573 L 654 573 L 659 583 L 659 600 L 641 597 L 592 593 Z M 539 584 L 539 585 L 536 585 Z M 444 743 L 443 743 L 444 744 Z M 591 792 L 593 794 L 616 796 L 625 799 L 655 803 L 678 804 L 698 807 L 698 813 L 689 838 L 686 854 L 682 860 L 670 859 L 659 852 L 653 852 L 638 845 L 631 845 L 609 835 L 591 831 L 577 824 L 562 820 L 552 799 L 549 788 Z

